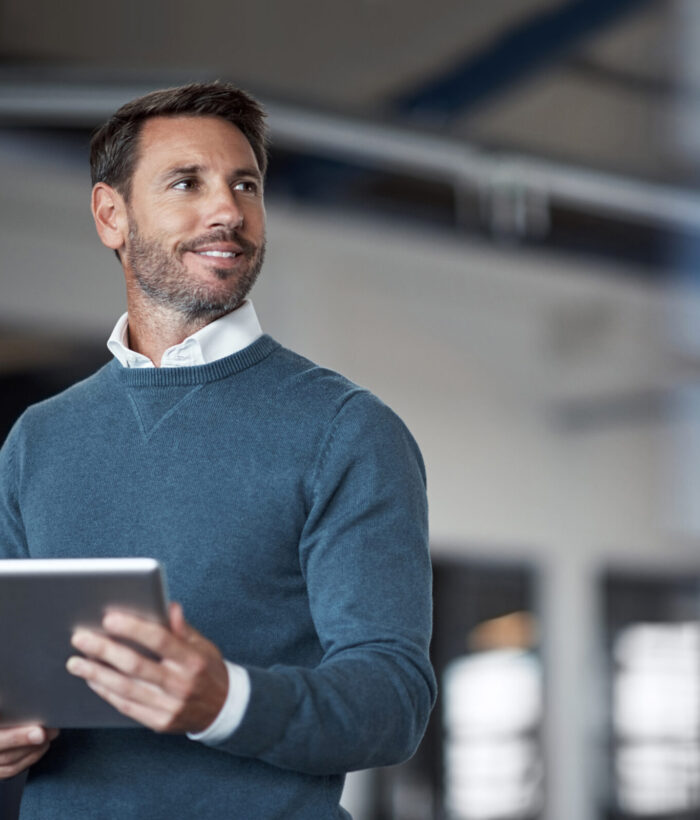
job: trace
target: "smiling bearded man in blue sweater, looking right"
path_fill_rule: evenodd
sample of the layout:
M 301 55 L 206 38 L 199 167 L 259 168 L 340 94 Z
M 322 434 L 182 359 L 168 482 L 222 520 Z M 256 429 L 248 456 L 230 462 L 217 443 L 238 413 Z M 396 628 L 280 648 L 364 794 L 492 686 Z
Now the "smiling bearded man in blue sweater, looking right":
M 264 335 L 246 299 L 263 117 L 196 84 L 93 138 L 92 212 L 128 311 L 114 360 L 8 436 L 0 552 L 152 556 L 181 604 L 169 630 L 112 613 L 73 636 L 68 670 L 143 729 L 0 730 L 0 777 L 31 767 L 23 818 L 345 817 L 344 773 L 410 756 L 433 704 L 415 442 Z

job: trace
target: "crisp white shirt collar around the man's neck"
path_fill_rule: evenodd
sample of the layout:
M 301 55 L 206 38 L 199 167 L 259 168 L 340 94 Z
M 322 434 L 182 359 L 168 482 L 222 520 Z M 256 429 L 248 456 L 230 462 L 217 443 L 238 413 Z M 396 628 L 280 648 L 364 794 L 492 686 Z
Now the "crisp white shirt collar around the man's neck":
M 161 367 L 193 367 L 210 364 L 248 347 L 262 336 L 253 303 L 246 299 L 240 307 L 205 325 L 201 330 L 169 347 L 161 358 Z M 142 353 L 129 348 L 128 314 L 117 320 L 107 340 L 109 352 L 123 367 L 154 367 Z

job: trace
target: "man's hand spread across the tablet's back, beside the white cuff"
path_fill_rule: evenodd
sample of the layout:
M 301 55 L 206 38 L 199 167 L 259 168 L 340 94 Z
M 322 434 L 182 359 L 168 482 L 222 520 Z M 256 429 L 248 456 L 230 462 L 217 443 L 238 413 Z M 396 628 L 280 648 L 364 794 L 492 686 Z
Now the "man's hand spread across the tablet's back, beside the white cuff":
M 109 612 L 106 635 L 77 629 L 72 643 L 86 657 L 71 657 L 69 672 L 122 714 L 156 732 L 201 732 L 219 714 L 228 692 L 221 653 L 170 604 L 170 630 L 126 612 Z M 153 652 L 151 660 L 113 638 Z

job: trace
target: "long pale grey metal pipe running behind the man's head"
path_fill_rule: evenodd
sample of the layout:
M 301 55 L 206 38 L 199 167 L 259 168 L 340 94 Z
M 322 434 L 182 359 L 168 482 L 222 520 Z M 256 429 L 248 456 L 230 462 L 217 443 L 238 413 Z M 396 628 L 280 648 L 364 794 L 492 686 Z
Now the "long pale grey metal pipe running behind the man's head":
M 0 77 L 0 126 L 94 127 L 153 84 L 87 85 Z M 274 145 L 359 162 L 370 168 L 430 177 L 465 190 L 529 192 L 595 214 L 649 226 L 700 230 L 693 191 L 586 170 L 517 154 L 488 153 L 451 137 L 394 125 L 266 105 Z

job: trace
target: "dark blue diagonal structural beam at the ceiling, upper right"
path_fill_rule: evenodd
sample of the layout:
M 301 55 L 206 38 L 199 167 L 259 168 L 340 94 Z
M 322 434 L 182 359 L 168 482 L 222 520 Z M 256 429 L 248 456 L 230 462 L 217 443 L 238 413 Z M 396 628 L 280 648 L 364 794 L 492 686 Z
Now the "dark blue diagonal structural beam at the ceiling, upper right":
M 565 57 L 623 15 L 662 0 L 568 0 L 509 29 L 449 72 L 397 100 L 401 113 L 448 123 Z

